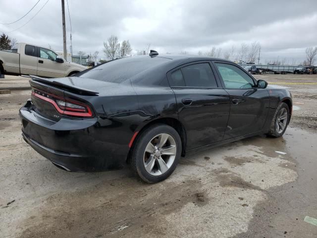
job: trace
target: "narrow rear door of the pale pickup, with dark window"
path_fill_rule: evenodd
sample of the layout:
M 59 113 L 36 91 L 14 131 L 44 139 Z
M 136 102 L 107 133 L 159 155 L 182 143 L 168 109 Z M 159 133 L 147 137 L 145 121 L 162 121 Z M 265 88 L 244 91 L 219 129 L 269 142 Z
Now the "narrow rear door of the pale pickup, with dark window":
M 23 52 L 24 51 L 24 52 Z M 37 47 L 25 45 L 24 49 L 20 49 L 20 73 L 21 74 L 37 74 L 38 60 Z

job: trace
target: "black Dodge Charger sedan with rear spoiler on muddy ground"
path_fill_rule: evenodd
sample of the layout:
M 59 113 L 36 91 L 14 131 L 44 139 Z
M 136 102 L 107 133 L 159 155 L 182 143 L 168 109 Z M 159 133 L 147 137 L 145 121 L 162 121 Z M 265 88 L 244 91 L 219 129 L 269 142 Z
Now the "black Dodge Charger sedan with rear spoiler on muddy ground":
M 239 65 L 209 57 L 112 60 L 73 77 L 31 76 L 22 136 L 67 171 L 128 163 L 147 182 L 166 179 L 186 153 L 267 134 L 283 135 L 292 96 Z

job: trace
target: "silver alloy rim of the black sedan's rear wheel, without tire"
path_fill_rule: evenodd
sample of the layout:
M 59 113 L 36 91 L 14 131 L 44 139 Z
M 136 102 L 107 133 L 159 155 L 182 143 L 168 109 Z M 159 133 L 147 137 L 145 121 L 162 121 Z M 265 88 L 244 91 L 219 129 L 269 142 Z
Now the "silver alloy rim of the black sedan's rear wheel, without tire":
M 152 176 L 166 173 L 173 165 L 176 157 L 176 142 L 174 138 L 161 133 L 149 141 L 143 156 L 145 170 Z

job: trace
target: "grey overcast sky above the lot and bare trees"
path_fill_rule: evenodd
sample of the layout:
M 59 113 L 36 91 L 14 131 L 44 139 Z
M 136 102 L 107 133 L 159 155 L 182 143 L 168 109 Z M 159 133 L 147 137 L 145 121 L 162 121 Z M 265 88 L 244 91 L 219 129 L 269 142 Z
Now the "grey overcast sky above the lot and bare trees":
M 0 22 L 23 16 L 38 0 L 0 0 Z M 62 51 L 61 1 L 40 0 L 20 21 L 0 24 L 0 32 L 18 42 Z M 317 0 L 68 0 L 73 54 L 78 51 L 105 58 L 103 42 L 111 35 L 129 40 L 133 54 L 147 44 L 161 54 L 197 54 L 212 46 L 229 51 L 258 41 L 261 60 L 305 59 L 305 49 L 317 46 Z M 67 1 L 65 0 L 67 13 Z M 15 30 L 15 31 L 13 31 Z M 12 31 L 12 32 L 10 32 Z M 66 14 L 67 51 L 70 24 Z

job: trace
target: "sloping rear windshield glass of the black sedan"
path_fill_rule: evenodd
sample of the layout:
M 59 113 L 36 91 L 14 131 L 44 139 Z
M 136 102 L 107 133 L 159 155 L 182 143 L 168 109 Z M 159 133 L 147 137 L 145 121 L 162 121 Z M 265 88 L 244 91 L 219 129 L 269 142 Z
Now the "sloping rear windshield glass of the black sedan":
M 169 59 L 160 57 L 127 57 L 113 60 L 80 74 L 80 77 L 121 83 L 144 70 L 158 66 Z

